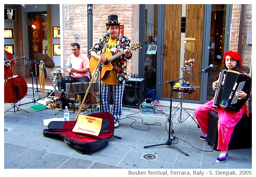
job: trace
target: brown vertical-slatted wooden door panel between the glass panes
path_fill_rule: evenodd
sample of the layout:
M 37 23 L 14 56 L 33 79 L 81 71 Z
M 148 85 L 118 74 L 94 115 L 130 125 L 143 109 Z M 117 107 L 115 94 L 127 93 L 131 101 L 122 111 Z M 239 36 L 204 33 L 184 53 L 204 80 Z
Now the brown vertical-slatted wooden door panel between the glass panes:
M 182 5 L 166 5 L 165 7 L 165 29 L 164 29 L 164 71 L 163 82 L 182 78 L 180 75 L 181 52 L 181 10 Z M 194 48 L 192 51 L 185 50 L 185 60 L 194 58 L 196 63 L 192 66 L 190 74 L 184 71 L 184 77 L 194 75 L 201 70 L 202 59 L 202 43 L 203 43 L 203 22 L 204 22 L 204 5 L 186 5 L 186 33 L 185 37 L 195 38 Z M 182 58 L 184 59 L 184 58 Z M 184 99 L 199 100 L 200 99 L 200 79 L 201 76 L 187 78 L 185 81 L 190 82 L 190 85 L 196 86 L 197 91 L 186 95 Z M 163 97 L 171 97 L 171 86 L 163 85 Z M 173 93 L 173 98 L 178 98 L 178 93 Z

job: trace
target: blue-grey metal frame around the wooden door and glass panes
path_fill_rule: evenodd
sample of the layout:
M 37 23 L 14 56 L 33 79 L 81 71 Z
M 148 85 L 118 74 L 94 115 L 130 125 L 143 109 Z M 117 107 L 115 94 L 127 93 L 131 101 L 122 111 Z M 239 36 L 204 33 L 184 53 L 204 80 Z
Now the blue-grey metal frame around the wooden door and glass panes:
M 209 40 L 210 40 L 210 25 L 211 25 L 211 4 L 204 5 L 204 25 L 203 25 L 203 50 L 202 50 L 202 65 L 201 69 L 209 66 Z M 226 25 L 225 25 L 225 43 L 224 51 L 229 50 L 230 45 L 230 28 L 232 20 L 232 5 L 227 5 L 226 13 Z M 163 41 L 164 41 L 164 18 L 165 18 L 165 5 L 158 5 L 158 27 L 157 27 L 157 37 L 158 37 L 158 52 L 157 52 L 157 74 L 156 74 L 156 97 L 160 100 L 170 100 L 170 98 L 163 98 Z M 142 50 L 139 53 L 139 75 L 144 76 L 144 58 L 145 58 L 145 5 L 140 5 L 140 27 L 139 27 L 139 40 L 142 41 Z M 206 50 L 207 49 L 207 50 Z M 200 98 L 199 100 L 183 100 L 183 102 L 193 102 L 193 103 L 204 103 L 207 98 L 207 82 L 208 75 L 201 75 L 200 83 Z M 174 99 L 178 101 L 178 99 Z

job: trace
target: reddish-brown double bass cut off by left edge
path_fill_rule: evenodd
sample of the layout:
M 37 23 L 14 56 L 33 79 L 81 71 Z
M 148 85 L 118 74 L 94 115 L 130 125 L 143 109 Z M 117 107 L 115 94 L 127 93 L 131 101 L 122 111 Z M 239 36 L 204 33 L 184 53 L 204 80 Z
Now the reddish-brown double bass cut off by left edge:
M 8 62 L 9 61 L 9 62 Z M 5 102 L 16 103 L 24 98 L 28 92 L 28 86 L 23 77 L 17 74 L 14 68 L 12 54 L 5 51 Z

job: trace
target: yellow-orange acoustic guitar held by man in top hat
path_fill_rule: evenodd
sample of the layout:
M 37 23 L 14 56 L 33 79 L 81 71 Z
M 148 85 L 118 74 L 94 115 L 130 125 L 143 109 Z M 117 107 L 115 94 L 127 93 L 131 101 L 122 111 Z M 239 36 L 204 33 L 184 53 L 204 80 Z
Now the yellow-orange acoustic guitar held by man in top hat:
M 132 44 L 131 47 L 127 47 L 126 49 L 128 50 L 136 50 L 136 49 L 141 49 L 141 44 L 140 42 L 136 42 L 135 44 Z M 91 75 L 93 76 L 93 74 L 95 73 L 94 77 L 92 78 L 93 81 L 96 81 L 97 78 L 98 80 L 102 79 L 107 79 L 107 77 L 109 77 L 110 71 L 112 70 L 117 70 L 117 60 L 115 60 L 116 58 L 118 58 L 119 56 L 123 55 L 124 51 L 119 52 L 118 54 L 115 54 L 112 51 L 105 51 L 103 56 L 107 58 L 108 63 L 104 64 L 102 63 L 102 69 L 101 69 L 101 77 L 98 77 L 98 68 L 97 68 L 97 64 L 98 64 L 98 60 L 91 57 L 90 58 L 90 62 L 89 62 L 89 67 L 90 67 L 90 71 L 93 71 L 91 73 Z

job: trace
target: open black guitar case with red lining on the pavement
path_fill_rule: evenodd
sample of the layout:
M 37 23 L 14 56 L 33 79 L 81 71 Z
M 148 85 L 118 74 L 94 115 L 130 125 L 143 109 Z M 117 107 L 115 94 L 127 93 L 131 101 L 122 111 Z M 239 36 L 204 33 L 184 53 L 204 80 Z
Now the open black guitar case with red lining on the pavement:
M 86 133 L 73 132 L 76 121 L 51 121 L 48 128 L 43 130 L 45 137 L 64 140 L 66 144 L 81 154 L 92 154 L 107 146 L 110 137 L 114 136 L 114 118 L 109 112 L 97 112 L 87 116 L 102 119 L 100 134 L 90 135 Z

